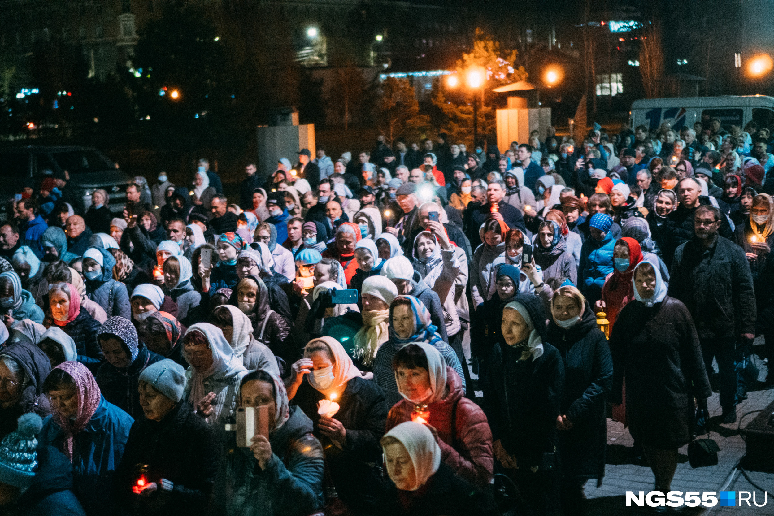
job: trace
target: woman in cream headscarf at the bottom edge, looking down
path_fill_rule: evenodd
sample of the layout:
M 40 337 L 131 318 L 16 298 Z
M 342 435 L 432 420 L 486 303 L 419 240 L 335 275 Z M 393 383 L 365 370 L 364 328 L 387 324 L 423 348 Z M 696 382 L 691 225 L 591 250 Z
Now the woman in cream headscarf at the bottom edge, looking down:
M 382 437 L 392 480 L 377 499 L 378 516 L 498 514 L 481 491 L 455 475 L 442 460 L 439 441 L 418 422 L 397 425 Z

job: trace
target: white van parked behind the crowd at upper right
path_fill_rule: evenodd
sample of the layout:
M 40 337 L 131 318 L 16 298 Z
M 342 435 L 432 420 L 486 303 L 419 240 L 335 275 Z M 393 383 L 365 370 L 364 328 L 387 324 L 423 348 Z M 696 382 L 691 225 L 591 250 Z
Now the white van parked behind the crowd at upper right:
M 648 98 L 632 103 L 629 125 L 659 128 L 668 121 L 673 129 L 694 128 L 694 122 L 717 118 L 728 130 L 731 125 L 745 128 L 748 121 L 755 121 L 759 128 L 769 127 L 774 121 L 774 97 L 744 95 L 724 97 L 674 97 Z

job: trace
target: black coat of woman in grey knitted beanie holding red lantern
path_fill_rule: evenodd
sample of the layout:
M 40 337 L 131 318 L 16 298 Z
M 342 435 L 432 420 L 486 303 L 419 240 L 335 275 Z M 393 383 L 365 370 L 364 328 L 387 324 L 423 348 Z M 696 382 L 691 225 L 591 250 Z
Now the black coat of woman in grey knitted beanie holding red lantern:
M 149 481 L 158 484 L 166 478 L 174 483 L 172 492 L 164 493 L 159 486 L 155 495 L 142 499 L 145 503 L 140 502 L 139 514 L 207 514 L 220 455 L 216 430 L 192 412 L 185 400 L 159 422 L 144 416 L 136 419 L 113 480 L 121 514 L 132 514 L 136 464 L 150 466 Z

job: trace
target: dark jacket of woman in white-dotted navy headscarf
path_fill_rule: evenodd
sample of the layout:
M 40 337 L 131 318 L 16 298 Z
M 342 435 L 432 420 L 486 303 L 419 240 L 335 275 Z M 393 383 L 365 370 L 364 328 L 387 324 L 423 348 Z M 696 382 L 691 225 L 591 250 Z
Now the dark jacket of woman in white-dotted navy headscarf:
M 97 371 L 97 384 L 102 395 L 108 402 L 121 408 L 134 419 L 145 418 L 140 406 L 140 396 L 137 383 L 140 373 L 150 364 L 164 360 L 164 357 L 148 350 L 140 343 L 137 358 L 129 367 L 118 368 L 110 362 L 102 364 Z

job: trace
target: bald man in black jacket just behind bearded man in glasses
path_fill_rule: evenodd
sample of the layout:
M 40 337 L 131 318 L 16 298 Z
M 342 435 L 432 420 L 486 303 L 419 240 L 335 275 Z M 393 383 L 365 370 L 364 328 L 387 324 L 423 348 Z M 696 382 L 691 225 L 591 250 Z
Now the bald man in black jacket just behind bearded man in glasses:
M 678 198 L 680 206 L 674 210 L 666 224 L 661 226 L 666 233 L 663 235 L 663 242 L 666 243 L 664 251 L 664 261 L 667 266 L 671 266 L 675 249 L 694 237 L 694 214 L 700 206 L 711 206 L 710 198 L 701 196 L 701 184 L 699 179 L 687 177 L 678 184 Z M 721 237 L 731 239 L 733 232 L 728 225 L 728 219 L 722 217 L 720 230 Z

